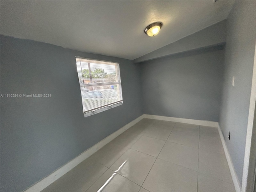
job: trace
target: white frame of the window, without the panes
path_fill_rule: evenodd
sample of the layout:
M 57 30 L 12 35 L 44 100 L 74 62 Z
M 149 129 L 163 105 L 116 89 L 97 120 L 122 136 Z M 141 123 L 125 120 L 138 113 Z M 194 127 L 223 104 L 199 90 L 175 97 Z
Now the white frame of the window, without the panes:
M 123 104 L 123 98 L 122 98 L 122 86 L 121 86 L 121 77 L 120 77 L 120 67 L 119 67 L 119 63 L 118 62 L 109 62 L 109 61 L 104 61 L 104 60 L 95 60 L 95 59 L 90 59 L 90 58 L 83 58 L 83 57 L 79 57 L 79 56 L 76 56 L 76 66 L 77 66 L 77 72 L 78 71 L 81 71 L 82 73 L 82 66 L 81 66 L 81 70 L 78 69 L 78 61 L 77 59 L 81 59 L 81 60 L 84 60 L 84 61 L 88 61 L 88 62 L 91 62 L 91 63 L 97 63 L 97 64 L 106 64 L 106 65 L 115 65 L 116 66 L 116 75 L 117 75 L 117 82 L 103 82 L 103 83 L 92 83 L 92 84 L 83 84 L 81 85 L 80 82 L 79 82 L 79 85 L 80 85 L 80 91 L 81 91 L 81 96 L 82 96 L 82 100 L 84 99 L 83 98 L 83 94 L 82 94 L 82 87 L 83 88 L 86 88 L 86 87 L 91 87 L 91 86 L 108 86 L 108 85 L 119 85 L 119 92 L 120 92 L 120 100 L 118 100 L 117 102 L 114 102 L 114 103 L 109 103 L 109 104 L 106 104 L 104 106 L 100 106 L 100 107 L 96 107 L 95 109 L 92 109 L 92 110 L 84 110 L 84 104 L 83 104 L 83 112 L 84 112 L 84 117 L 87 117 L 87 116 L 91 116 L 91 115 L 94 115 L 94 114 L 98 114 L 100 112 L 103 112 L 103 111 L 106 111 L 108 109 L 111 109 L 111 108 L 114 108 L 114 107 L 117 107 L 117 106 L 120 106 Z M 79 75 L 78 75 L 78 81 L 79 81 Z

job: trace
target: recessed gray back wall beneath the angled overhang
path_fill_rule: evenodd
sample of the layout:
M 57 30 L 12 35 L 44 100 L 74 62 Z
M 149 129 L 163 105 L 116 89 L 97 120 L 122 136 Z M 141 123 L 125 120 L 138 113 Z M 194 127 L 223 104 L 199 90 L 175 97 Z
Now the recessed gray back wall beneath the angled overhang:
M 142 62 L 144 114 L 218 122 L 222 48 L 215 46 Z

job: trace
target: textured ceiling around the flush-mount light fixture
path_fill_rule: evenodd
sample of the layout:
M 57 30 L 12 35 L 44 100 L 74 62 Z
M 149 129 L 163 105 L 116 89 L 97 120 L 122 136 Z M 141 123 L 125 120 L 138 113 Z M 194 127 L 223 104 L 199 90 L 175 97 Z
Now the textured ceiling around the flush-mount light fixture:
M 1 1 L 1 34 L 135 59 L 226 19 L 233 3 Z M 144 29 L 153 22 L 163 26 L 148 37 Z

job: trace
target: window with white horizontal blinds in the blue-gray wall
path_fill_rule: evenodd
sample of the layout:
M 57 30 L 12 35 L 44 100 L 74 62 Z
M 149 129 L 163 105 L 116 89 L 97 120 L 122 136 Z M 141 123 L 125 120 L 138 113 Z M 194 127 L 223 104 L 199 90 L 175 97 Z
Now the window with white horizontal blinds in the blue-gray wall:
M 76 57 L 84 116 L 123 104 L 119 64 Z

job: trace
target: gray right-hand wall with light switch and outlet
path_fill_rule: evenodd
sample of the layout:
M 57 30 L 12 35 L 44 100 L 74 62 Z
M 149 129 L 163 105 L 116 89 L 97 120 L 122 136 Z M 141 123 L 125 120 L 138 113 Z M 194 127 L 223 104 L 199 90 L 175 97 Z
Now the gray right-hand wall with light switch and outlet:
M 220 127 L 242 182 L 256 38 L 256 1 L 236 1 L 227 18 Z M 235 76 L 235 86 L 232 86 Z M 227 139 L 230 131 L 230 140 Z

